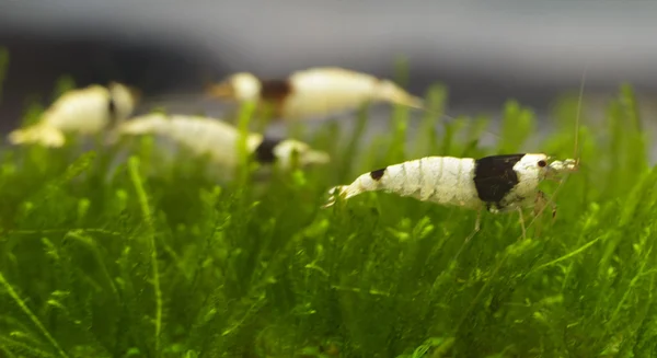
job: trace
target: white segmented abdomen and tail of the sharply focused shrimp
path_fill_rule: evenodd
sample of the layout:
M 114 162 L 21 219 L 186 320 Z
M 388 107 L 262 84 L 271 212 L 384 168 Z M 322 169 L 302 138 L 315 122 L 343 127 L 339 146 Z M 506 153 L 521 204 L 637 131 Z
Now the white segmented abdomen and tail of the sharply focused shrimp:
M 483 207 L 473 181 L 474 160 L 470 158 L 427 157 L 412 160 L 385 168 L 378 180 L 377 172 L 362 174 L 349 185 L 337 186 L 332 194 L 348 199 L 365 192 L 383 190 L 446 206 Z M 327 206 L 333 201 L 334 198 Z

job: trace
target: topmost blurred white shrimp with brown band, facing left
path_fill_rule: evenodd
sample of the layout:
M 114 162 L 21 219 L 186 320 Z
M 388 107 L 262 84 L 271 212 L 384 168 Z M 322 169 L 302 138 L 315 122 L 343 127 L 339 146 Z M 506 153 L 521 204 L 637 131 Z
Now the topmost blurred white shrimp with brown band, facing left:
M 208 94 L 238 102 L 274 105 L 285 120 L 307 120 L 357 109 L 367 102 L 389 102 L 423 108 L 423 101 L 394 82 L 337 67 L 298 71 L 285 80 L 263 80 L 247 72 L 210 85 Z

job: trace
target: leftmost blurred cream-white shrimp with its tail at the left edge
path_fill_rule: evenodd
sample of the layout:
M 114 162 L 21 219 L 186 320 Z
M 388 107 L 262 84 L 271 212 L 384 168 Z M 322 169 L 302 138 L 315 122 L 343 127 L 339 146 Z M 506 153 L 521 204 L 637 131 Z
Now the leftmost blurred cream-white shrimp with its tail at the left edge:
M 35 125 L 9 134 L 12 145 L 61 147 L 66 134 L 91 136 L 122 123 L 134 111 L 140 94 L 122 83 L 97 84 L 64 93 Z

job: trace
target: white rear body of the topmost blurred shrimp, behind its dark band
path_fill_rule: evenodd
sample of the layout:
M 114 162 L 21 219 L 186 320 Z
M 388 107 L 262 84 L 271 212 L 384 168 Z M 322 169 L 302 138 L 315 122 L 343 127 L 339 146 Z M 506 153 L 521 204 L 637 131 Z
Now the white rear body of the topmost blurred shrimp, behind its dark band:
M 389 102 L 422 108 L 422 100 L 390 80 L 342 68 L 313 68 L 289 77 L 291 94 L 283 103 L 288 119 L 354 111 L 366 102 Z

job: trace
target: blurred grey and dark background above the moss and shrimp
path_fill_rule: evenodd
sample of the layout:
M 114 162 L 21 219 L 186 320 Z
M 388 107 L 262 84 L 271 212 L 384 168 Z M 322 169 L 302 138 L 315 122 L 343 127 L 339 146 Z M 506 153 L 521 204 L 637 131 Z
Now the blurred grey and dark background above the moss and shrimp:
M 499 112 L 514 97 L 543 116 L 585 68 L 587 97 L 626 81 L 647 115 L 656 15 L 654 1 L 0 0 L 0 46 L 11 56 L 0 130 L 28 99 L 47 104 L 62 74 L 80 86 L 125 81 L 147 101 L 196 112 L 210 104 L 193 94 L 231 72 L 341 66 L 392 78 L 400 56 L 411 92 L 448 85 L 450 115 Z

